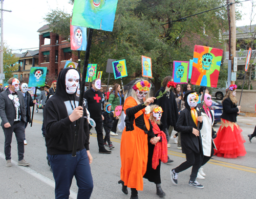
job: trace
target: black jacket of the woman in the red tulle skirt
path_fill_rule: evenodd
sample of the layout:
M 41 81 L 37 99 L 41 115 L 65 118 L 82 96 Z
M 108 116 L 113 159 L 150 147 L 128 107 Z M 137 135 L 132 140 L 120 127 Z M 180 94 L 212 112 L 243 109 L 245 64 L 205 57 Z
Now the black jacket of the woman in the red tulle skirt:
M 228 121 L 236 122 L 239 111 L 237 104 L 233 104 L 231 99 L 228 97 L 224 99 L 222 106 L 223 113 L 221 115 L 221 118 Z

